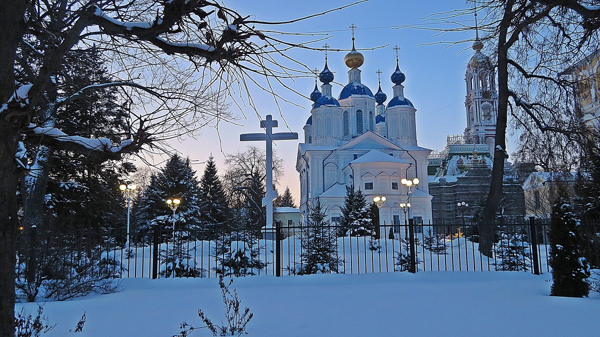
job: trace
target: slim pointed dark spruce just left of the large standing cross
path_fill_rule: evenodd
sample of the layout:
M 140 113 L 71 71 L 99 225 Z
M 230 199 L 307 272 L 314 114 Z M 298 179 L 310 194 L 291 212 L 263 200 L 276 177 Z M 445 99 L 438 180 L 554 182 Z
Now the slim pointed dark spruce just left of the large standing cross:
M 214 157 L 208 157 L 200 178 L 200 221 L 209 237 L 223 228 L 229 221 L 229 207 L 225 199 L 223 184 L 217 173 Z

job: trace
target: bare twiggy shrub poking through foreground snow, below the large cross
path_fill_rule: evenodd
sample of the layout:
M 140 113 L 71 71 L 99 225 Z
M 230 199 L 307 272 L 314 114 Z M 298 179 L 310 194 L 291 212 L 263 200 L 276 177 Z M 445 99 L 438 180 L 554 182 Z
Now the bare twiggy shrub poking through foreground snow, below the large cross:
M 235 289 L 233 293 L 229 290 L 229 286 L 233 284 L 233 278 L 229 279 L 229 282 L 226 284 L 223 281 L 223 276 L 219 277 L 219 287 L 221 288 L 221 295 L 223 296 L 223 304 L 225 306 L 225 318 L 227 320 L 227 324 L 217 325 L 212 323 L 212 321 L 206 317 L 206 314 L 202 311 L 202 309 L 198 310 L 198 317 L 204 324 L 208 330 L 212 332 L 213 336 L 241 336 L 247 334 L 246 327 L 254 314 L 250 311 L 250 308 L 244 308 L 243 312 L 240 312 L 241 301 L 239 300 L 238 291 Z M 188 323 L 181 323 L 181 332 L 179 335 L 175 335 L 178 337 L 185 337 L 190 335 L 195 329 L 200 329 L 203 327 L 193 327 Z

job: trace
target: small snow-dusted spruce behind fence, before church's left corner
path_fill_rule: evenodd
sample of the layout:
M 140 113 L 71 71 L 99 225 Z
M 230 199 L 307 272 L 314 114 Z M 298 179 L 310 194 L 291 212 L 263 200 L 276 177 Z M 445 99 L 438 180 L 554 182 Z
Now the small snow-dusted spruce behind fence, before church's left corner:
M 300 262 L 290 272 L 296 275 L 338 273 L 341 261 L 335 230 L 325 222 L 320 201 L 309 206 L 308 225 L 302 228 Z

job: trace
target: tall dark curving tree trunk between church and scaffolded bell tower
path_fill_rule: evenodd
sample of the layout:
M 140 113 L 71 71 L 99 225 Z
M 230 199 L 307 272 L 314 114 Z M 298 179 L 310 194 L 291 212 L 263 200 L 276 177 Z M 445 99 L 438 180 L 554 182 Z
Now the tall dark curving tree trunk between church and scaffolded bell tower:
M 506 123 L 508 115 L 508 46 L 506 37 L 511 24 L 511 10 L 514 1 L 505 5 L 504 16 L 500 22 L 498 37 L 498 116 L 496 118 L 496 143 L 494 148 L 494 165 L 491 172 L 490 192 L 482 212 L 479 227 L 479 251 L 491 257 L 494 243 L 494 227 L 496 212 L 502 198 L 502 182 L 504 180 L 504 161 L 506 159 Z

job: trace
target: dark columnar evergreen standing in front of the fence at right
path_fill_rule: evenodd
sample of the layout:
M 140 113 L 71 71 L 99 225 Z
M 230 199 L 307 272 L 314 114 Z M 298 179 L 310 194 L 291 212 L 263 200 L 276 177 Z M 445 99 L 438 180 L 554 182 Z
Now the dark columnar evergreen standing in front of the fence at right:
M 566 198 L 559 197 L 552 208 L 550 220 L 550 296 L 584 297 L 589 293 L 586 278 L 589 264 L 580 247 L 580 220 Z

